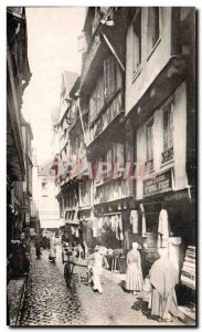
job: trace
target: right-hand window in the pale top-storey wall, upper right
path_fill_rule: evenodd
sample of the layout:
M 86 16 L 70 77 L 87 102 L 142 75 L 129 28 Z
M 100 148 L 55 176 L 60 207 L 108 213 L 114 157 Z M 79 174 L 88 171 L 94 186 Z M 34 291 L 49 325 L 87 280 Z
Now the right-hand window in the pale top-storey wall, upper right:
M 148 8 L 148 51 L 150 52 L 160 37 L 159 7 Z

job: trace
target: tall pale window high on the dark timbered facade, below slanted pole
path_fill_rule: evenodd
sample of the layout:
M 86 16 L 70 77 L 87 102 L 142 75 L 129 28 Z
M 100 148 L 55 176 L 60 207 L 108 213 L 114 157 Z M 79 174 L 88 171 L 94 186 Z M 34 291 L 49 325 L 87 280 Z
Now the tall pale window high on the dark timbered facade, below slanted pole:
M 115 60 L 114 56 L 104 62 L 105 97 L 115 92 Z

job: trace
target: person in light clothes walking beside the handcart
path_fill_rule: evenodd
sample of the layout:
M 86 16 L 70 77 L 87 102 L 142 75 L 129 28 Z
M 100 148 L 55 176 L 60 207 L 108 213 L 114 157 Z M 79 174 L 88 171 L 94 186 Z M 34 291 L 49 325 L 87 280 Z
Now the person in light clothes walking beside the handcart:
M 108 268 L 107 259 L 103 255 L 102 249 L 99 247 L 95 247 L 95 252 L 88 258 L 88 271 L 93 282 L 93 290 L 98 291 L 99 294 L 103 294 L 103 288 L 100 284 L 103 268 Z

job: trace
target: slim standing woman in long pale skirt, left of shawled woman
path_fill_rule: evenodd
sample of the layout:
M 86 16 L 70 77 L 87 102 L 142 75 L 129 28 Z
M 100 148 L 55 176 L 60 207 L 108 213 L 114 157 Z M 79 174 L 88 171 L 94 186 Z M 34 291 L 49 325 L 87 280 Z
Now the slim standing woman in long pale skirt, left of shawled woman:
M 126 290 L 134 294 L 141 291 L 143 282 L 141 257 L 138 251 L 138 242 L 132 242 L 132 249 L 127 255 Z

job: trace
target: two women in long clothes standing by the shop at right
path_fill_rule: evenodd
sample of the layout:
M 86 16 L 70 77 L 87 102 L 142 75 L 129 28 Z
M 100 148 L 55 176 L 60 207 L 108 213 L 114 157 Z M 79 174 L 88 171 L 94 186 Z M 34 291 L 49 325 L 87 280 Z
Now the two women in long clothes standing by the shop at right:
M 126 290 L 136 294 L 143 286 L 141 258 L 138 243 L 132 243 L 132 249 L 127 255 Z M 178 302 L 174 287 L 178 283 L 178 271 L 168 258 L 168 249 L 158 249 L 157 259 L 149 271 L 147 280 L 150 282 L 150 297 L 148 307 L 151 318 L 159 321 L 171 321 L 171 315 L 179 317 Z

